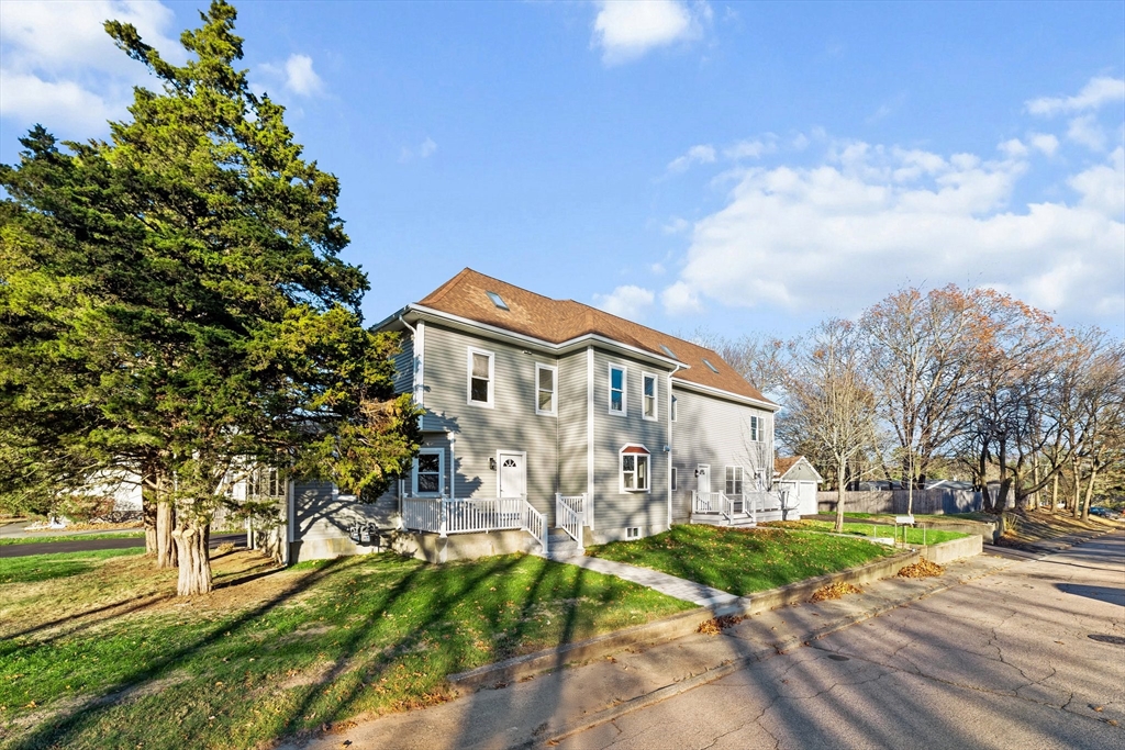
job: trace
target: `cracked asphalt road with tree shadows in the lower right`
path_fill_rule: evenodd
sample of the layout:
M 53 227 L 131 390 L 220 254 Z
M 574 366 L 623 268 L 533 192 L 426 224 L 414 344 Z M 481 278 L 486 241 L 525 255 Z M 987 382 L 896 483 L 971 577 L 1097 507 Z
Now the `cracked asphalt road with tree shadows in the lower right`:
M 955 586 L 559 747 L 1120 750 L 1125 532 Z

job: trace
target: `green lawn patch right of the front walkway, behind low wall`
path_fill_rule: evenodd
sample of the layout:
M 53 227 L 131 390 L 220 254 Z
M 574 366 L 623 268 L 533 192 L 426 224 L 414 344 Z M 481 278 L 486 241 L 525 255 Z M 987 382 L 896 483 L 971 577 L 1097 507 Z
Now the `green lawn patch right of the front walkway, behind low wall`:
M 677 525 L 656 536 L 590 548 L 739 596 L 863 564 L 894 550 L 862 540 L 780 528 Z

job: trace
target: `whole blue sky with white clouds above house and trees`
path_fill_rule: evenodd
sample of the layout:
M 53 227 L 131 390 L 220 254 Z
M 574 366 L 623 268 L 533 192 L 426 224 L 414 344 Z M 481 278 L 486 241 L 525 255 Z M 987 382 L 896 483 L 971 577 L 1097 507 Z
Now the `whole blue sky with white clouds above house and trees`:
M 1125 334 L 1125 2 L 242 2 L 377 320 L 469 265 L 670 332 L 907 283 Z M 97 137 L 195 2 L 0 1 L 0 160 Z

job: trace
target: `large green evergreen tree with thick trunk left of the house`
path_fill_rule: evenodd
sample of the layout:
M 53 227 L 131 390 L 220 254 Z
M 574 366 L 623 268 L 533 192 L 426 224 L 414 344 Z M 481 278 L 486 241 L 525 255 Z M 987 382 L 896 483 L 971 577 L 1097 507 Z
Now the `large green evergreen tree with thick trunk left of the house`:
M 209 523 L 248 466 L 378 491 L 418 442 L 395 340 L 362 327 L 367 278 L 339 257 L 336 179 L 236 70 L 234 8 L 201 18 L 183 66 L 107 22 L 163 91 L 136 89 L 108 143 L 36 128 L 0 172 L 6 444 L 138 470 L 174 507 L 182 595 L 210 590 Z

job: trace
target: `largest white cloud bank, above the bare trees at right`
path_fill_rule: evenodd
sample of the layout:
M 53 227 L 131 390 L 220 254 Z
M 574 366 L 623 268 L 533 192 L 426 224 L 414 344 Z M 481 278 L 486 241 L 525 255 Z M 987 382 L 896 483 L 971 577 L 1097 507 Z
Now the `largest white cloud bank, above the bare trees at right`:
M 670 315 L 708 300 L 850 314 L 909 280 L 952 281 L 1119 325 L 1125 148 L 1073 174 L 1073 199 L 1012 205 L 1028 156 L 1011 142 L 991 157 L 842 142 L 810 166 L 748 170 L 693 225 L 660 300 Z

